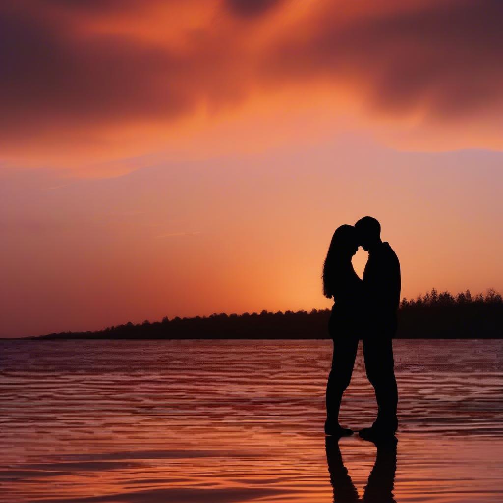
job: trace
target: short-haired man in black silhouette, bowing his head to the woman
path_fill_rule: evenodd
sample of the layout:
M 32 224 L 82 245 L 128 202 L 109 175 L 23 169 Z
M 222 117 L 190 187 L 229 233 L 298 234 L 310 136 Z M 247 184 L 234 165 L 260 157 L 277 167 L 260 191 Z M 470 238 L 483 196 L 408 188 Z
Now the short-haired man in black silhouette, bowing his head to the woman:
M 373 217 L 355 224 L 359 245 L 369 252 L 363 272 L 365 309 L 368 313 L 363 336 L 363 355 L 367 378 L 374 387 L 378 412 L 362 437 L 394 435 L 398 428 L 396 407 L 398 389 L 394 372 L 392 339 L 396 332 L 396 313 L 400 303 L 400 263 L 385 241 L 381 225 Z

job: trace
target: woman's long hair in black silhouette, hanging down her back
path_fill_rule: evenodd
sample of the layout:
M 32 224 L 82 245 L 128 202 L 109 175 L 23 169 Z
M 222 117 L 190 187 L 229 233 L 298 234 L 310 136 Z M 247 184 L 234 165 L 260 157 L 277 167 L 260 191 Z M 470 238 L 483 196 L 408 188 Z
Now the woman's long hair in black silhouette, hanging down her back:
M 325 262 L 323 262 L 323 295 L 331 298 L 341 267 L 351 260 L 356 243 L 356 231 L 352 225 L 341 225 L 332 235 Z

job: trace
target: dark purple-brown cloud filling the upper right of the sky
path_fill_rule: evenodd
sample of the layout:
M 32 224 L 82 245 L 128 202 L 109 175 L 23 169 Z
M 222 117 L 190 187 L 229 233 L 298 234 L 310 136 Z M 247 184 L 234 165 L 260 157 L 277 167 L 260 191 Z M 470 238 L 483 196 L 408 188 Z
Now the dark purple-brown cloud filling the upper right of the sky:
M 353 80 L 389 111 L 421 104 L 449 116 L 501 104 L 503 2 L 424 3 L 343 24 L 339 15 L 337 6 L 328 8 L 311 20 L 309 37 L 282 41 L 264 71 L 281 80 Z

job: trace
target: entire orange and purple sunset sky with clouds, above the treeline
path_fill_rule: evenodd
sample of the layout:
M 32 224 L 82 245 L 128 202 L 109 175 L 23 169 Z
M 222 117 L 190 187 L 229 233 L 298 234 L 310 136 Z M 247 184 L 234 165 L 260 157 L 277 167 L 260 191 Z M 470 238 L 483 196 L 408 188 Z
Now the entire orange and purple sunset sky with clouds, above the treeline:
M 364 215 L 402 296 L 503 291 L 501 20 L 499 0 L 2 3 L 0 337 L 329 307 L 331 234 Z

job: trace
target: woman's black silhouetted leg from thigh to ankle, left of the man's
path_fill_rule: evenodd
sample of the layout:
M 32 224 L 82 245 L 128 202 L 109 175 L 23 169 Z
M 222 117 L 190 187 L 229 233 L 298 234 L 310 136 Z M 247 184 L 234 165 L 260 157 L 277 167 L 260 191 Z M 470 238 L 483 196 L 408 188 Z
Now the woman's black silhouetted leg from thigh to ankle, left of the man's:
M 351 382 L 358 351 L 358 338 L 338 337 L 333 340 L 332 368 L 326 383 L 326 423 L 339 426 L 343 393 Z

